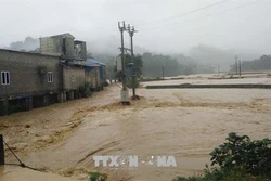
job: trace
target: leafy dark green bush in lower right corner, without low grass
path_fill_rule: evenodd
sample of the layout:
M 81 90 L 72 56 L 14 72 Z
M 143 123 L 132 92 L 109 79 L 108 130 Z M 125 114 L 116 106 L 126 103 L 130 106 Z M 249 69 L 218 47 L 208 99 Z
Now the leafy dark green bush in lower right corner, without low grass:
M 227 140 L 210 153 L 211 166 L 217 164 L 221 169 L 237 166 L 253 176 L 271 176 L 270 139 L 250 141 L 247 135 L 232 132 Z

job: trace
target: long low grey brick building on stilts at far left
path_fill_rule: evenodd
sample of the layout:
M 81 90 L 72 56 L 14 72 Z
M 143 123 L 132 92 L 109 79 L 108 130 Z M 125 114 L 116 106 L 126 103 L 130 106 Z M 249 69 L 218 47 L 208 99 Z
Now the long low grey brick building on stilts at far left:
M 59 56 L 0 49 L 0 115 L 54 103 L 62 89 Z

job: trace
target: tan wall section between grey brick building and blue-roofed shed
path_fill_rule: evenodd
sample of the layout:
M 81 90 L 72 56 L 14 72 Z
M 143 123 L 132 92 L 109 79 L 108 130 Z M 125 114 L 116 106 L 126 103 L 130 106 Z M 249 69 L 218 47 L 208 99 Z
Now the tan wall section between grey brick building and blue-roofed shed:
M 63 89 L 77 90 L 85 85 L 85 68 L 63 65 Z

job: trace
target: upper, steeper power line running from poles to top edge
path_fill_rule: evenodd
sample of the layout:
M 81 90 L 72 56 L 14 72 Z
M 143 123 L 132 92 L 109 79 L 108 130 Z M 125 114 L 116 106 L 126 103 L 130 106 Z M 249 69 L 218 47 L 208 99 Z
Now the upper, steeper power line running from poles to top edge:
M 186 13 L 182 13 L 182 14 L 175 15 L 175 16 L 169 16 L 169 17 L 166 17 L 166 18 L 163 18 L 163 20 L 160 20 L 160 21 L 153 22 L 153 23 L 144 23 L 144 24 L 138 25 L 138 26 L 139 26 L 139 27 L 145 27 L 145 26 L 155 25 L 155 24 L 158 24 L 158 23 L 170 22 L 170 21 L 172 21 L 172 20 L 176 20 L 176 18 L 179 18 L 179 17 L 184 17 L 184 16 L 186 16 L 186 15 L 190 15 L 190 14 L 192 14 L 192 13 L 196 13 L 196 12 L 202 11 L 202 10 L 205 10 L 205 9 L 209 9 L 209 8 L 211 8 L 211 7 L 219 5 L 219 4 L 224 3 L 224 2 L 227 2 L 227 1 L 229 1 L 229 0 L 223 0 L 223 1 L 220 1 L 220 2 L 216 2 L 216 3 L 209 4 L 209 5 L 199 8 L 199 9 L 192 10 L 192 11 L 186 12 Z

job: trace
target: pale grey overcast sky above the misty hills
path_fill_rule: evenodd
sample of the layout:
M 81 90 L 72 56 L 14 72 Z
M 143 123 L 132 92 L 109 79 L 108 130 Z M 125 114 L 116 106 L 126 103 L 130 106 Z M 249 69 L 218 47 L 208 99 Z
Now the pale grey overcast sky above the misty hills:
M 92 48 L 116 50 L 117 22 L 126 21 L 139 30 L 134 44 L 150 51 L 205 43 L 271 54 L 270 18 L 271 0 L 0 0 L 0 47 L 68 31 Z

